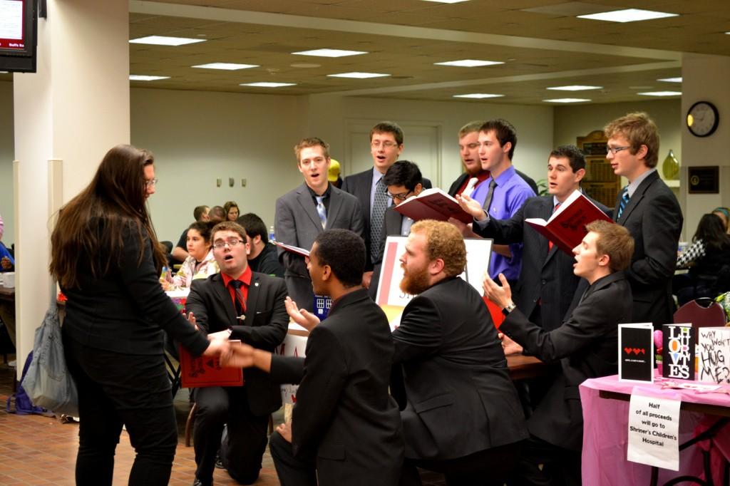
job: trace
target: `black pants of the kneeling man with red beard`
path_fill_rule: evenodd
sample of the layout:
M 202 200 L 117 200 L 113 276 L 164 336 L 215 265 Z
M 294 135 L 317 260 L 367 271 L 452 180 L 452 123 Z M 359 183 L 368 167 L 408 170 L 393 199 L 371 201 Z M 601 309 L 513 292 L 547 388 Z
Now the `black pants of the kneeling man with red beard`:
M 520 460 L 522 442 L 475 452 L 463 458 L 414 460 L 406 458 L 400 486 L 420 486 L 417 468 L 444 474 L 448 486 L 502 486 Z

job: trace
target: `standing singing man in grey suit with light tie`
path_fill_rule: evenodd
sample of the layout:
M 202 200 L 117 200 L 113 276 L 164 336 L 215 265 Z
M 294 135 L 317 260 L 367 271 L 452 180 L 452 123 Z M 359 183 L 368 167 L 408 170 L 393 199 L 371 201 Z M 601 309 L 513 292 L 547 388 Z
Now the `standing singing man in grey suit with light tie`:
M 276 201 L 274 230 L 277 242 L 309 249 L 326 229 L 348 229 L 363 235 L 363 219 L 357 198 L 334 187 L 327 178 L 329 144 L 312 137 L 294 147 L 304 183 Z M 279 249 L 284 279 L 291 300 L 300 309 L 314 312 L 315 295 L 304 257 Z

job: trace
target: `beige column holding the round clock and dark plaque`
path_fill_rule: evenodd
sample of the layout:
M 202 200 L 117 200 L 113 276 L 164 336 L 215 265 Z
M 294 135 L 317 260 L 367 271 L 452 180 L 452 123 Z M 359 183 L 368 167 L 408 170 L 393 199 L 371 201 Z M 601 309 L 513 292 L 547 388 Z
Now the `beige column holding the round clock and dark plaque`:
M 683 239 L 692 239 L 700 217 L 718 206 L 730 207 L 730 57 L 685 54 L 682 58 L 682 170 L 680 198 L 685 208 Z M 710 101 L 720 112 L 720 124 L 714 134 L 692 135 L 686 116 L 697 101 Z M 659 157 L 659 163 L 663 159 Z M 689 194 L 687 168 L 720 166 L 719 194 Z

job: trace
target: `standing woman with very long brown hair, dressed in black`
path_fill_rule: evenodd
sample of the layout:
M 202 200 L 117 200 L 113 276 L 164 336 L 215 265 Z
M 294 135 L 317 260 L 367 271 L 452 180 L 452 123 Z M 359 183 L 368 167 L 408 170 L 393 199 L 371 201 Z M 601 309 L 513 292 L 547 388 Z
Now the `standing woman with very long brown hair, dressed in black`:
M 165 255 L 147 197 L 153 155 L 118 145 L 91 183 L 58 213 L 50 273 L 68 297 L 62 328 L 79 391 L 77 485 L 111 485 L 122 426 L 137 452 L 129 485 L 166 485 L 177 447 L 163 357 L 168 331 L 193 355 L 216 355 L 160 286 Z

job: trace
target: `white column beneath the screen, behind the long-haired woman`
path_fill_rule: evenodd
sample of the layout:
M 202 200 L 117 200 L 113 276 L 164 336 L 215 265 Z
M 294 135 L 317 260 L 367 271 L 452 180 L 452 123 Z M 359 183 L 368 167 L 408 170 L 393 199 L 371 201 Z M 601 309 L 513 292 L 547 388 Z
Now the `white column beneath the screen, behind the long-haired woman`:
M 128 1 L 48 0 L 47 8 L 37 72 L 13 77 L 18 376 L 54 292 L 53 212 L 130 139 Z

